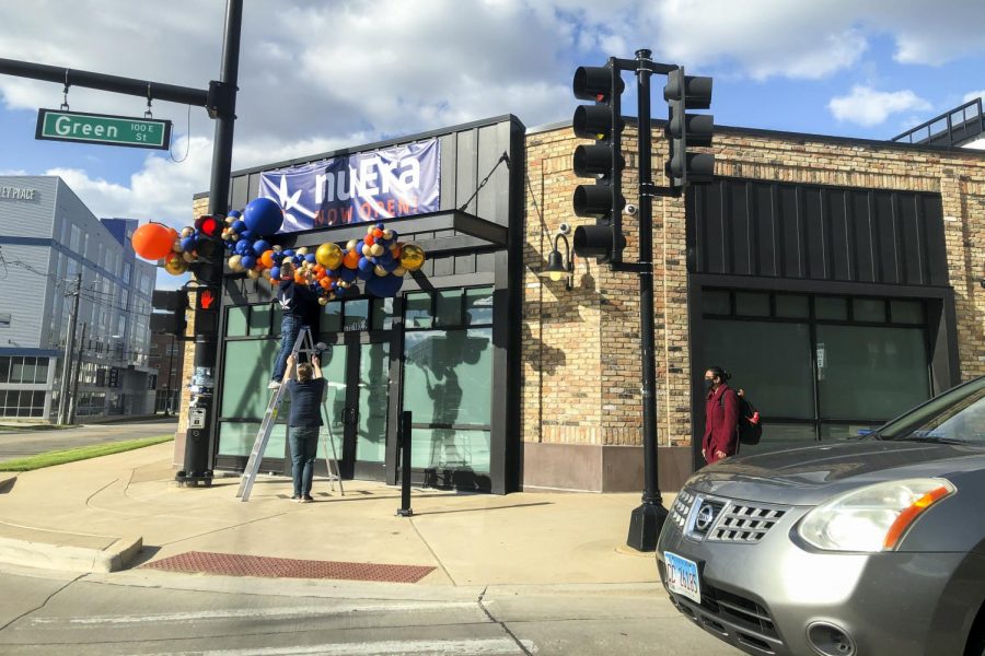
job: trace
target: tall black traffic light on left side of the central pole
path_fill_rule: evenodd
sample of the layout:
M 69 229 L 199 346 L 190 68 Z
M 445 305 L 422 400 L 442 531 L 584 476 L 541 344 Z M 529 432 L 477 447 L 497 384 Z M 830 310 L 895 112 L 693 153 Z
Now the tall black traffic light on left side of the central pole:
M 622 226 L 626 204 L 622 194 L 622 173 L 626 165 L 621 148 L 623 79 L 611 59 L 604 67 L 579 67 L 575 71 L 573 89 L 575 97 L 595 101 L 594 105 L 579 105 L 572 121 L 576 136 L 595 140 L 575 149 L 575 175 L 595 178 L 594 185 L 579 185 L 575 189 L 575 214 L 595 219 L 595 225 L 575 229 L 575 254 L 594 257 L 599 263 L 619 262 L 626 246 Z

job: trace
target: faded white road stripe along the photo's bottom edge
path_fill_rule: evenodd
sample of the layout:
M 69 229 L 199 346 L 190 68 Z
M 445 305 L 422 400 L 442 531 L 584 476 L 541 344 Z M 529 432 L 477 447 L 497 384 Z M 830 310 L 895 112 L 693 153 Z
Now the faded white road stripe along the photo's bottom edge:
M 484 654 L 536 654 L 532 641 L 520 641 L 521 648 L 508 637 L 472 640 L 408 640 L 372 643 L 332 643 L 321 645 L 298 645 L 293 647 L 246 647 L 243 649 L 206 649 L 201 652 L 167 652 L 149 656 L 473 656 Z

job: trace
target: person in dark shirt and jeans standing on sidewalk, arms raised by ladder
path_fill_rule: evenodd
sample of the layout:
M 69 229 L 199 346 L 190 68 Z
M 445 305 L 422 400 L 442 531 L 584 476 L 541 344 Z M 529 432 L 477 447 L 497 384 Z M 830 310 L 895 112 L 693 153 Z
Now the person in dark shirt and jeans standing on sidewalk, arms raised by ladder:
M 297 379 L 293 377 L 296 368 Z M 322 427 L 321 407 L 326 389 L 318 358 L 312 355 L 311 364 L 297 364 L 294 355 L 289 355 L 285 384 L 291 395 L 291 415 L 288 419 L 291 477 L 294 480 L 294 494 L 291 499 L 309 503 L 314 501 L 311 497 L 311 481 L 314 477 L 314 460 Z

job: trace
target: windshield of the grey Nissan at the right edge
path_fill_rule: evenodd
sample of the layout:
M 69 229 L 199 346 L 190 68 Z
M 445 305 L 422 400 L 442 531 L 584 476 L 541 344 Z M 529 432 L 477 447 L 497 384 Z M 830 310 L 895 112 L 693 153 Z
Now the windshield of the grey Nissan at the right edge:
M 985 446 L 985 378 L 942 394 L 889 422 L 872 437 Z

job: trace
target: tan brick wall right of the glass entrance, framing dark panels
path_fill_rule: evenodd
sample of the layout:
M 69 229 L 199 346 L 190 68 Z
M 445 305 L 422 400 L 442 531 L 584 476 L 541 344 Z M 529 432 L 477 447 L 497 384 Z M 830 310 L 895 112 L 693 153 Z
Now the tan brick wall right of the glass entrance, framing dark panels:
M 654 181 L 662 185 L 667 144 L 653 137 Z M 528 444 L 639 445 L 639 283 L 594 260 L 576 260 L 575 289 L 538 278 L 561 222 L 592 223 L 571 211 L 578 184 L 571 154 L 582 140 L 570 128 L 528 137 L 522 347 L 523 435 Z M 635 150 L 628 129 L 624 150 Z M 631 148 L 630 148 L 631 147 Z M 962 379 L 985 374 L 985 157 L 808 136 L 716 134 L 716 174 L 762 180 L 941 194 L 948 266 L 958 311 Z M 637 202 L 635 152 L 627 156 L 624 196 Z M 691 361 L 683 199 L 653 201 L 658 440 L 691 443 Z M 627 261 L 638 249 L 637 223 L 624 216 Z

